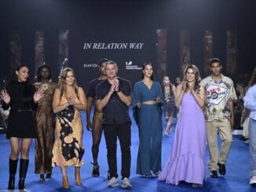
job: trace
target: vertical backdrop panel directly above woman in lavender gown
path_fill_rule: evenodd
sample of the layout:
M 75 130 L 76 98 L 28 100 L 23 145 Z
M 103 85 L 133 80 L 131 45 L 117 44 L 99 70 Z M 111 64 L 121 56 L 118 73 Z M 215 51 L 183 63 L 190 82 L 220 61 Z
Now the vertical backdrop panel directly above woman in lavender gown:
M 183 68 L 191 62 L 190 33 L 188 30 L 180 32 L 180 73 Z

